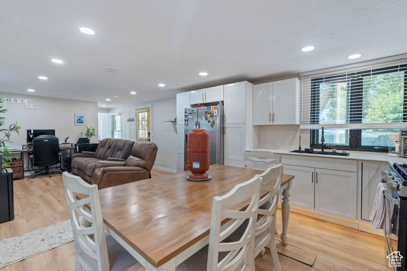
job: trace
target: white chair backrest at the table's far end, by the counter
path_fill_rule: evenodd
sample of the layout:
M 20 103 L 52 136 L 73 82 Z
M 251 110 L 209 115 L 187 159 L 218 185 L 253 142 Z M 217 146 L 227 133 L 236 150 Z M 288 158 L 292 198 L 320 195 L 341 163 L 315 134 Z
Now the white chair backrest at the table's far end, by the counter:
M 281 155 L 270 151 L 245 151 L 245 167 L 265 171 L 268 167 L 281 163 Z

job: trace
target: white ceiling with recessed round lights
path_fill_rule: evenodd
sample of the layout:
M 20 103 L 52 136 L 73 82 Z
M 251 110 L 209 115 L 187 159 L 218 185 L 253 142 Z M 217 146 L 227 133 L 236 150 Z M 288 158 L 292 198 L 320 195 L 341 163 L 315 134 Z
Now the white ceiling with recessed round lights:
M 288 78 L 407 53 L 406 11 L 404 0 L 3 0 L 0 92 L 108 109 Z

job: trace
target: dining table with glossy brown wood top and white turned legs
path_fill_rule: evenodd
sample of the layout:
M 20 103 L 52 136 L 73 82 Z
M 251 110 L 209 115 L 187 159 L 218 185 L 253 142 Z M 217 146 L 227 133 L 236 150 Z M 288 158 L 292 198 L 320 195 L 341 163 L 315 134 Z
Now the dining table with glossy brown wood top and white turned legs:
M 106 230 L 146 270 L 175 270 L 209 243 L 214 196 L 263 172 L 227 165 L 211 165 L 208 181 L 186 178 L 189 172 L 99 190 Z M 294 176 L 282 178 L 281 238 L 288 239 L 289 188 Z M 269 185 L 273 185 L 273 180 Z

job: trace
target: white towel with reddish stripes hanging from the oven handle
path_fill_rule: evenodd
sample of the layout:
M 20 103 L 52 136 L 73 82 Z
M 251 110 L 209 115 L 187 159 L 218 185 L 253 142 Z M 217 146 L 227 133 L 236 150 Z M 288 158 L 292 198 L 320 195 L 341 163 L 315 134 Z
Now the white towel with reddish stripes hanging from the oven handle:
M 372 221 L 371 224 L 373 227 L 376 229 L 383 229 L 385 234 L 391 234 L 390 202 L 384 195 L 385 191 L 385 184 L 380 182 L 377 186 L 370 220 Z

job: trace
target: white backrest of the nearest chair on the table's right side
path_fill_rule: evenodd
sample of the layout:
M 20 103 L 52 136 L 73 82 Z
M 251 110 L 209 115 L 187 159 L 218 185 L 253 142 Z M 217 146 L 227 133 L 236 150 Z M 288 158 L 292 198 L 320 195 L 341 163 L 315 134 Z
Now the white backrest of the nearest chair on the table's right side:
M 223 196 L 213 199 L 211 231 L 209 236 L 209 251 L 207 270 L 251 269 L 254 248 L 254 233 L 259 201 L 261 180 L 254 177 L 249 181 L 236 185 Z M 237 205 L 250 201 L 245 210 L 237 209 Z M 221 228 L 221 220 L 229 218 L 227 227 Z M 248 220 L 247 227 L 239 241 L 222 242 L 230 234 Z M 219 253 L 227 254 L 219 262 Z

